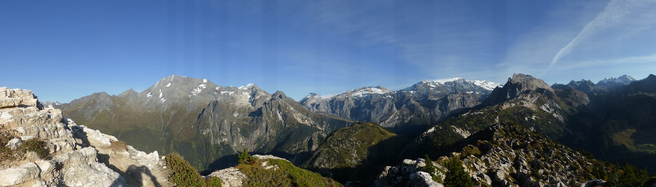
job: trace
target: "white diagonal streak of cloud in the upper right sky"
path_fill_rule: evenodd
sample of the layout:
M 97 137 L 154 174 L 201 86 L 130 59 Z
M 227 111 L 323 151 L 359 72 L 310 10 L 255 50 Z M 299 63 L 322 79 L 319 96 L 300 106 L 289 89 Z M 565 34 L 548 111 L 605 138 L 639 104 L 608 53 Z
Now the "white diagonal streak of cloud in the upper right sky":
M 586 38 L 595 35 L 601 30 L 605 30 L 611 26 L 621 24 L 626 20 L 629 14 L 635 12 L 636 9 L 644 8 L 646 4 L 653 3 L 653 1 L 636 1 L 636 0 L 611 0 L 606 5 L 605 9 L 600 12 L 592 21 L 588 22 L 583 29 L 577 34 L 574 39 L 569 41 L 565 47 L 560 49 L 551 60 L 548 68 L 544 69 L 541 76 L 551 70 L 554 65 L 569 54 L 577 45 L 583 42 Z

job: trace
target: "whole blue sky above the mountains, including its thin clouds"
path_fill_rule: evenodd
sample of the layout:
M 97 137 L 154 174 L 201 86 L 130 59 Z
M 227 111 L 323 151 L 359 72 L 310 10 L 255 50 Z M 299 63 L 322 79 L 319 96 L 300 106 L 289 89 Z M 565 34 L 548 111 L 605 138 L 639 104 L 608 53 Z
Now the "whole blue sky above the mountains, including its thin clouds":
M 0 87 L 69 102 L 178 74 L 300 100 L 424 79 L 656 73 L 656 1 L 7 1 Z

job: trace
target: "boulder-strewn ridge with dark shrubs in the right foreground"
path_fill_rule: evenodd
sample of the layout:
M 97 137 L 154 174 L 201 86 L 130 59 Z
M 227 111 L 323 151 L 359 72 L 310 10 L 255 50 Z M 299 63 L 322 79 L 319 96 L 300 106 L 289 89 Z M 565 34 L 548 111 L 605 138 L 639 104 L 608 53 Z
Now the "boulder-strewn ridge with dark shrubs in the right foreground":
M 446 185 L 457 175 L 447 171 L 454 169 L 453 160 L 461 161 L 462 175 L 474 186 L 579 186 L 603 178 L 599 171 L 616 169 L 515 123 L 493 123 L 440 150 L 428 154 L 433 161 L 414 157 L 385 167 L 375 186 Z

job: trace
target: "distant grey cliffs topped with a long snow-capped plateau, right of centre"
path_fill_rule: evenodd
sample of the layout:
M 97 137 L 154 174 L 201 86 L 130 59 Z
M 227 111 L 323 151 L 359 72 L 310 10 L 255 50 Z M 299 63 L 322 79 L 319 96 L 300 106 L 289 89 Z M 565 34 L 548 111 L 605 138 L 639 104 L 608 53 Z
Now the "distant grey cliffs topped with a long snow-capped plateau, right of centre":
M 417 134 L 427 125 L 476 106 L 497 86 L 501 85 L 462 78 L 421 81 L 400 91 L 379 86 L 336 95 L 310 93 L 300 104 L 312 112 L 371 121 L 400 134 Z

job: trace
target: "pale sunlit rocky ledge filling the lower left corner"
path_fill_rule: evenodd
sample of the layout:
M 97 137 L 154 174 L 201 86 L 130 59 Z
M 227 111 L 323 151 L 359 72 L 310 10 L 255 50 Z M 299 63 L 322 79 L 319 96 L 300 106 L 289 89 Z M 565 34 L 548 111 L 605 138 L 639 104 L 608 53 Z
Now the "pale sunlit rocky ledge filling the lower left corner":
M 75 125 L 28 90 L 0 87 L 0 137 L 0 186 L 171 186 L 157 152 Z

